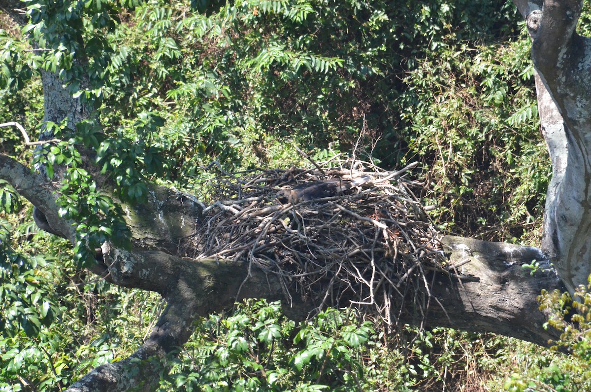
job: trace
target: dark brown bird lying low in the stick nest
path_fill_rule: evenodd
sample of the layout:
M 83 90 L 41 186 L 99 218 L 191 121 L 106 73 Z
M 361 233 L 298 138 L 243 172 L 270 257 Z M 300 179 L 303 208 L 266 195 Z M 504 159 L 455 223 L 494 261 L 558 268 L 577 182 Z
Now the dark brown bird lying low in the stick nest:
M 281 189 L 281 191 L 277 192 L 277 200 L 281 204 L 296 204 L 301 201 L 313 201 L 324 197 L 338 196 L 369 181 L 371 181 L 371 177 L 365 175 L 352 181 L 338 178 L 327 181 L 304 182 L 304 184 L 292 189 Z

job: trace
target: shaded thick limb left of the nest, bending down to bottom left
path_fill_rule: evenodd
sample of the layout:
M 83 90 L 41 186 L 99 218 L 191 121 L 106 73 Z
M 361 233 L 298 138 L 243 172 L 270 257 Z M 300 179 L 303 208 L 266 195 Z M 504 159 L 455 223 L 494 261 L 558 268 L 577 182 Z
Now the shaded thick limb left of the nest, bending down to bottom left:
M 167 298 L 168 306 L 150 338 L 135 354 L 124 361 L 94 369 L 68 391 L 153 390 L 160 379 L 160 372 L 167 366 L 166 359 L 177 355 L 190 338 L 192 324 L 197 317 L 228 309 L 234 301 L 242 298 L 277 300 L 282 297 L 277 279 L 267 277 L 258 269 L 252 271 L 251 277 L 240 288 L 248 274 L 248 265 L 242 262 L 180 259 L 157 251 L 126 255 L 133 258 L 127 266 L 119 265 L 125 264 L 124 253 L 121 252 L 111 264 L 111 271 L 124 269 L 125 276 L 113 277 L 115 282 L 132 285 L 135 279 L 143 277 L 147 281 L 154 278 L 151 274 L 159 274 L 161 282 L 158 289 Z M 286 309 L 286 313 L 302 319 L 310 309 L 311 304 L 299 304 Z

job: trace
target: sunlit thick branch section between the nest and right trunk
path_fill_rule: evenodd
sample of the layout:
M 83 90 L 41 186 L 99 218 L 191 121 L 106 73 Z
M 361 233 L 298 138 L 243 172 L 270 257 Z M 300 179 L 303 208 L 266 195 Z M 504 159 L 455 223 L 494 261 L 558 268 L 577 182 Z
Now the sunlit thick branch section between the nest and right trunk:
M 538 310 L 537 296 L 543 289 L 565 288 L 540 249 L 452 236 L 443 243 L 450 264 L 462 264 L 452 269 L 460 279 L 441 274 L 434 279 L 432 294 L 443 309 L 431 306 L 428 325 L 489 331 L 544 346 L 560 336 L 556 330 L 544 330 L 547 314 Z M 534 260 L 541 270 L 524 272 L 522 265 Z

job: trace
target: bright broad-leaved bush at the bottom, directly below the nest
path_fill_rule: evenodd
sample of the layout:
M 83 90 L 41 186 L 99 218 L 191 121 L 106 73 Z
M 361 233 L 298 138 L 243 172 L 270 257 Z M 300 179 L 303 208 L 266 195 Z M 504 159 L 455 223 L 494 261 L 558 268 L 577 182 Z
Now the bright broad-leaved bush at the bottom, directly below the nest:
M 190 373 L 171 375 L 177 388 L 215 391 L 224 385 L 245 390 L 356 390 L 364 385 L 360 344 L 375 339 L 371 323 L 352 311 L 330 309 L 296 326 L 278 303 L 249 300 L 235 314 L 200 323 Z

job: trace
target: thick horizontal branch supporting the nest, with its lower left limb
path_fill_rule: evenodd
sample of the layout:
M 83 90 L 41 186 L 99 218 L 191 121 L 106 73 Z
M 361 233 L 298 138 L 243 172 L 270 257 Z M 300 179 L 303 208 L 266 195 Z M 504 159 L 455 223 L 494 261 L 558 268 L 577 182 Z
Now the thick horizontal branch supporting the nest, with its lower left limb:
M 433 272 L 426 319 L 413 319 L 410 315 L 418 312 L 404 311 L 399 322 L 501 333 L 540 345 L 548 345 L 549 339 L 560 336 L 556 330 L 543 329 L 547 318 L 537 310 L 536 298 L 543 288 L 564 290 L 539 249 L 461 237 L 445 237 L 443 242 L 450 252 L 450 265 L 458 267 L 450 268 L 447 274 Z M 69 391 L 125 391 L 132 386 L 151 390 L 166 366 L 165 358 L 178 354 L 189 339 L 196 317 L 228 309 L 241 298 L 284 297 L 278 279 L 258 268 L 252 269 L 245 281 L 246 263 L 180 259 L 164 252 L 115 252 L 114 258 L 106 259 L 111 260 L 111 271 L 123 271 L 112 277 L 115 282 L 133 286 L 142 277 L 147 281 L 160 274 L 160 286 L 151 288 L 165 295 L 168 307 L 150 338 L 134 355 L 96 368 Z M 132 259 L 126 261 L 125 257 Z M 534 259 L 545 271 L 524 273 L 521 265 Z M 285 311 L 290 317 L 302 319 L 314 306 L 300 302 Z M 404 304 L 407 310 L 417 306 L 414 298 L 407 298 Z M 398 316 L 398 310 L 394 310 L 392 318 Z

